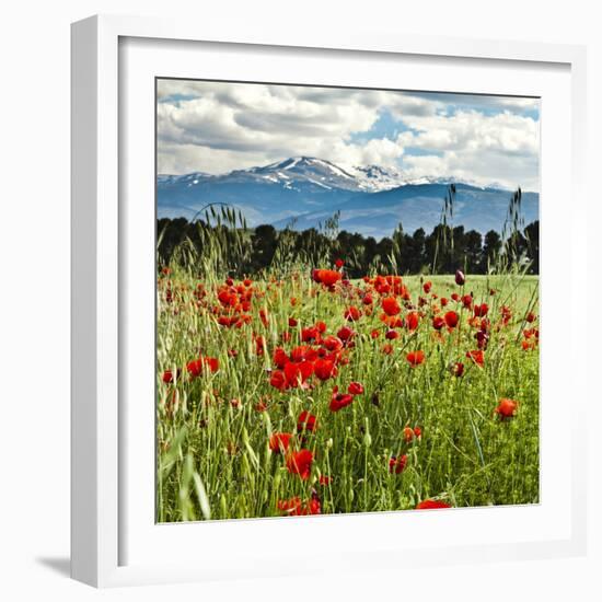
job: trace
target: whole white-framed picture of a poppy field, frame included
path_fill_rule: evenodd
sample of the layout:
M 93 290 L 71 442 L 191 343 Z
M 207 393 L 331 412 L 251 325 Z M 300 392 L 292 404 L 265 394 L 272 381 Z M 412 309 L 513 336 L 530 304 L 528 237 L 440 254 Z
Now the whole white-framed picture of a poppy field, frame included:
M 73 24 L 73 578 L 582 553 L 583 115 L 581 47 Z

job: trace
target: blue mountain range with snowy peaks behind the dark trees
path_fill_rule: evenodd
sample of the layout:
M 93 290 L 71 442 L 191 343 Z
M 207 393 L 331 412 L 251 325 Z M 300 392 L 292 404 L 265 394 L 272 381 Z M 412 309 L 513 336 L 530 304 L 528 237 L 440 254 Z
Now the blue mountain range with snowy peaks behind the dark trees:
M 193 219 L 209 202 L 240 209 L 250 225 L 277 229 L 319 227 L 340 211 L 339 228 L 377 239 L 404 231 L 430 232 L 440 221 L 443 198 L 455 184 L 453 223 L 483 234 L 503 228 L 512 192 L 443 177 L 409 178 L 403 171 L 379 165 L 343 169 L 329 161 L 293 157 L 265 166 L 222 175 L 194 172 L 159 175 L 159 218 Z M 540 195 L 523 193 L 524 223 L 539 219 Z

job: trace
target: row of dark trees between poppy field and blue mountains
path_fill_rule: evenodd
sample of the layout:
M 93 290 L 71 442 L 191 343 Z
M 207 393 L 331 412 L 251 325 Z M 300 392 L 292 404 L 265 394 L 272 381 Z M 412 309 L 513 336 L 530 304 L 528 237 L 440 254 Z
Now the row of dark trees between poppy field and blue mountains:
M 334 227 L 333 227 L 334 225 Z M 186 242 L 196 252 L 207 245 L 207 233 L 223 233 L 228 227 L 185 218 L 158 220 L 160 264 L 169 264 L 176 250 Z M 311 266 L 324 259 L 345 262 L 350 278 L 366 274 L 450 274 L 461 268 L 470 274 L 486 274 L 519 265 L 529 274 L 540 271 L 540 222 L 514 227 L 503 235 L 495 230 L 482 235 L 463 225 L 439 223 L 430 233 L 419 228 L 412 234 L 400 223 L 391 236 L 380 240 L 331 228 L 302 231 L 276 230 L 270 224 L 239 227 L 236 247 L 244 246 L 232 265 L 240 274 L 256 274 L 288 259 Z M 241 234 L 242 232 L 242 234 Z M 242 243 L 241 243 L 242 241 Z M 225 244 L 224 248 L 229 248 Z

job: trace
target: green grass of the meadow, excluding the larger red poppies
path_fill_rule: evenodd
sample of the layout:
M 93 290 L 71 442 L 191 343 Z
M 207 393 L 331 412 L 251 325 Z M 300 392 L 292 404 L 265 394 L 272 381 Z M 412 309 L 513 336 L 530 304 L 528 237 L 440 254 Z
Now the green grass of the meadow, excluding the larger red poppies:
M 425 277 L 439 298 L 472 292 L 476 303 L 488 304 L 490 338 L 479 368 L 465 357 L 477 348 L 478 328 L 468 324 L 472 312 L 461 303 L 450 301 L 442 309 L 458 311 L 461 321 L 438 337 L 432 316 L 439 299 L 421 293 L 427 304 L 418 328 L 396 328 L 400 338 L 385 341 L 378 294 L 372 315 L 354 324 L 344 319 L 351 304 L 363 311 L 357 298 L 363 281 L 328 292 L 310 274 L 297 274 L 279 282 L 254 280 L 257 294 L 246 312 L 251 323 L 224 327 L 212 311 L 220 305 L 216 289 L 222 281 L 204 278 L 207 294 L 200 299 L 194 294 L 200 280 L 192 270 L 173 270 L 158 285 L 158 521 L 281 516 L 278 501 L 294 496 L 303 503 L 313 496 L 322 513 L 406 510 L 427 498 L 454 507 L 539 501 L 539 350 L 522 347 L 524 328 L 537 326 L 524 320 L 530 311 L 537 314 L 536 277 L 468 275 L 463 291 L 453 276 Z M 404 283 L 416 304 L 419 278 L 404 278 Z M 502 305 L 512 312 L 506 325 Z M 266 325 L 261 309 L 267 310 Z M 288 326 L 290 316 L 299 321 L 297 327 Z M 275 368 L 273 350 L 280 345 L 290 351 L 301 344 L 301 327 L 319 320 L 327 325 L 324 336 L 345 325 L 356 331 L 348 363 L 325 382 L 312 377 L 309 389 L 278 391 L 267 372 Z M 377 339 L 370 336 L 374 328 L 381 331 Z M 285 332 L 289 343 L 281 341 Z M 263 355 L 256 336 L 265 337 Z M 393 347 L 390 355 L 382 351 L 385 343 Z M 412 367 L 406 354 L 416 349 L 426 360 Z M 218 358 L 220 368 L 192 379 L 186 363 L 199 354 Z M 456 361 L 465 364 L 462 378 L 450 370 Z M 181 371 L 174 383 L 162 381 L 165 370 Z M 331 412 L 333 386 L 345 391 L 351 381 L 364 393 Z M 519 404 L 506 420 L 495 414 L 503 397 Z M 314 454 L 308 479 L 289 473 L 282 454 L 268 447 L 271 433 L 297 431 L 302 410 L 319 424 L 315 432 L 291 442 Z M 405 427 L 420 427 L 421 437 L 406 442 Z M 405 470 L 391 473 L 391 456 L 402 454 Z M 320 484 L 321 475 L 331 484 Z

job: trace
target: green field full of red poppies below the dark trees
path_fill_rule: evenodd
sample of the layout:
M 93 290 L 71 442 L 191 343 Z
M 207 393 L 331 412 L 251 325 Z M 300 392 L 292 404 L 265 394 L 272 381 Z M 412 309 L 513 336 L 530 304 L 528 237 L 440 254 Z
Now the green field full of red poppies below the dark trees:
M 539 501 L 537 277 L 158 279 L 157 520 Z

